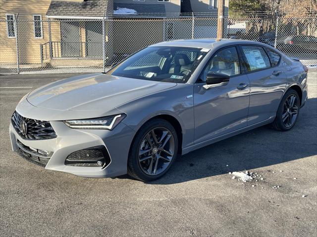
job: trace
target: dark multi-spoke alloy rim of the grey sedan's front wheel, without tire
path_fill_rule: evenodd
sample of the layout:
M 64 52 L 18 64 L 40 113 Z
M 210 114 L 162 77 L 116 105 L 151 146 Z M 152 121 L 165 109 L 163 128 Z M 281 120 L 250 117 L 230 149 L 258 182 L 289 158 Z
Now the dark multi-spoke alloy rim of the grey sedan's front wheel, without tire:
M 139 148 L 139 164 L 147 175 L 163 172 L 174 156 L 175 141 L 165 127 L 157 127 L 148 132 Z

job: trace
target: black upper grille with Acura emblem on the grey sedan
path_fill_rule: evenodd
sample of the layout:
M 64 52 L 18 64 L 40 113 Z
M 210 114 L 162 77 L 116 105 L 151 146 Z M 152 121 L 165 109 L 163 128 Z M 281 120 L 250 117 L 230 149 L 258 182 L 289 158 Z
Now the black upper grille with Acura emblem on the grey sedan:
M 15 111 L 11 122 L 15 131 L 27 140 L 43 140 L 57 137 L 51 123 L 48 121 L 24 118 Z

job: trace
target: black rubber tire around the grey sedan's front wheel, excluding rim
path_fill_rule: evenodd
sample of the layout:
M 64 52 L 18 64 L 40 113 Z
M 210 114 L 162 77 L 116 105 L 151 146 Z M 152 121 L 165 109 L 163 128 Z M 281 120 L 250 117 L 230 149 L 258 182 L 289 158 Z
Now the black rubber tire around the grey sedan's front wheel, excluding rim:
M 142 145 L 144 145 L 144 139 L 146 139 L 147 134 L 149 134 L 152 130 L 154 129 L 167 129 L 172 135 L 173 138 L 173 156 L 172 158 L 170 158 L 169 163 L 164 163 L 163 165 L 164 170 L 162 172 L 160 172 L 157 175 L 149 175 L 146 173 L 146 171 L 144 170 L 144 167 L 141 167 L 141 165 L 143 165 L 142 162 L 150 162 L 150 161 L 140 161 L 139 160 L 139 152 L 143 151 L 140 150 L 142 147 Z M 153 137 L 152 137 L 153 138 Z M 170 139 L 169 139 L 170 140 Z M 153 144 L 154 141 L 152 141 Z M 129 158 L 128 158 L 128 175 L 132 176 L 135 179 L 144 181 L 144 182 L 149 182 L 149 181 L 153 181 L 156 179 L 159 179 L 160 177 L 162 177 L 170 168 L 170 166 L 172 165 L 172 163 L 174 162 L 174 160 L 177 157 L 177 149 L 178 149 L 178 138 L 177 138 L 177 133 L 175 128 L 166 120 L 164 119 L 160 119 L 160 118 L 155 118 L 153 120 L 150 120 L 148 122 L 146 122 L 141 128 L 140 130 L 137 132 L 135 138 L 133 139 L 131 148 L 130 148 L 130 153 L 129 153 Z M 154 155 L 154 152 L 152 150 L 152 156 Z M 162 155 L 163 156 L 163 155 Z M 155 158 L 150 158 L 150 159 L 155 159 Z M 155 162 L 155 161 L 153 161 Z

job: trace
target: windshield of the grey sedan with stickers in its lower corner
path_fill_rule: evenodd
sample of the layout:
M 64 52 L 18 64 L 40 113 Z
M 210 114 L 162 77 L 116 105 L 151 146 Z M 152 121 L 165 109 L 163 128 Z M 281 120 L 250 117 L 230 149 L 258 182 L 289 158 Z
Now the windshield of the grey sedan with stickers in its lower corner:
M 186 83 L 209 50 L 190 47 L 147 47 L 106 74 L 125 78 Z

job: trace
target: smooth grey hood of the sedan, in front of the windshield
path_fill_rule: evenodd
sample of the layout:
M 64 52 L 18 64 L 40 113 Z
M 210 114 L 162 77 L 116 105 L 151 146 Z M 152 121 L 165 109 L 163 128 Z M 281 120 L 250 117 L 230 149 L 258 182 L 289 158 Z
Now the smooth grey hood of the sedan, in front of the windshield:
M 176 83 L 93 74 L 42 86 L 27 96 L 33 106 L 59 111 L 109 111 Z

